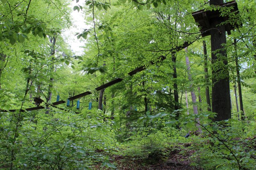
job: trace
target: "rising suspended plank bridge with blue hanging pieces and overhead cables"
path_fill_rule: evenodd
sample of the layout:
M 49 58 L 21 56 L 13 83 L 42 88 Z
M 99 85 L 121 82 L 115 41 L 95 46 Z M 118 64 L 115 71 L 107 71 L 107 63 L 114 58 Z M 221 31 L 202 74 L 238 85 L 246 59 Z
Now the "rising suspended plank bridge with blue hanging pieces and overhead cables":
M 205 4 L 207 4 L 207 3 L 205 3 Z M 205 4 L 203 4 L 203 5 L 205 5 Z M 175 5 L 177 5 L 177 4 L 175 4 Z M 202 7 L 203 5 L 201 5 L 200 7 Z M 168 6 L 168 7 L 170 7 L 170 6 Z M 166 7 L 167 9 L 165 8 L 166 10 L 165 10 L 165 9 L 164 9 L 164 10 L 167 11 L 167 10 L 168 10 L 168 7 Z M 193 11 L 196 11 L 196 10 L 199 9 L 200 7 L 196 8 L 196 9 L 193 10 Z M 160 12 L 163 12 L 164 10 L 162 10 L 162 11 L 160 11 Z M 192 12 L 193 12 L 193 11 L 192 11 Z M 188 14 L 189 14 L 189 13 L 188 13 Z M 185 16 L 187 16 L 188 14 L 186 14 Z M 185 16 L 183 16 L 183 18 L 184 18 Z M 144 23 L 144 22 L 146 22 L 146 21 L 149 21 L 149 20 L 151 20 L 151 19 L 153 19 L 153 16 L 152 16 L 152 18 L 147 19 L 147 20 L 143 21 L 142 23 Z M 119 37 L 119 38 L 117 38 L 117 40 L 119 40 L 119 39 L 121 38 L 121 35 L 125 35 L 125 34 L 128 33 L 129 31 L 135 30 L 135 29 L 138 28 L 138 26 L 140 26 L 142 23 L 140 23 L 140 24 L 134 26 L 133 28 L 129 29 L 128 31 L 126 31 L 126 32 L 124 32 L 124 33 L 118 35 L 117 37 Z M 173 23 L 174 23 L 174 22 L 173 22 Z M 173 24 L 173 23 L 172 23 L 172 24 Z M 206 30 L 206 31 L 208 31 L 208 30 Z M 195 39 L 195 41 L 198 40 L 198 38 L 199 38 L 203 33 L 205 33 L 206 31 L 201 31 L 201 34 Z M 202 33 L 202 32 L 203 32 L 203 33 Z M 188 47 L 189 45 L 191 45 L 191 44 L 192 44 L 193 42 L 195 42 L 195 41 L 191 41 L 191 42 L 186 41 L 186 42 L 184 42 L 184 43 L 183 43 L 182 45 L 180 45 L 180 46 L 177 46 L 177 47 L 172 48 L 172 49 L 170 49 L 170 50 L 161 50 L 161 51 L 175 51 L 175 52 L 179 52 L 180 50 L 182 50 L 182 49 Z M 92 49 L 91 51 L 87 52 L 86 55 L 91 54 L 91 53 L 92 53 L 94 50 L 96 50 L 96 49 L 97 49 L 97 48 Z M 156 52 L 158 52 L 158 51 L 156 51 Z M 159 52 L 160 52 L 160 51 L 159 51 Z M 70 101 L 72 101 L 72 100 L 79 99 L 79 98 L 81 98 L 81 97 L 90 95 L 90 94 L 92 94 L 93 92 L 96 92 L 96 91 L 105 89 L 105 88 L 107 88 L 107 87 L 109 87 L 109 86 L 115 85 L 116 83 L 119 83 L 119 82 L 123 81 L 125 78 L 127 78 L 127 77 L 129 77 L 129 76 L 133 76 L 133 75 L 137 74 L 138 72 L 145 70 L 149 65 L 155 65 L 155 64 L 157 64 L 157 63 L 159 63 L 159 62 L 162 62 L 162 61 L 165 60 L 165 59 L 166 59 L 166 56 L 161 55 L 161 56 L 158 57 L 158 59 L 157 59 L 156 61 L 151 61 L 151 62 L 149 62 L 148 64 L 144 64 L 144 65 L 142 65 L 142 66 L 140 66 L 140 67 L 137 67 L 137 68 L 135 68 L 134 70 L 130 71 L 129 73 L 127 73 L 128 76 L 124 76 L 124 78 L 116 78 L 116 79 L 114 79 L 114 80 L 112 80 L 112 81 L 110 81 L 110 82 L 108 82 L 108 83 L 106 83 L 106 84 L 103 84 L 103 85 L 101 85 L 101 86 L 95 88 L 95 90 L 93 90 L 93 91 L 91 91 L 91 92 L 87 91 L 87 92 L 80 93 L 80 94 L 78 94 L 78 95 L 76 95 L 76 96 L 72 96 L 72 97 L 70 97 L 70 98 L 67 99 L 67 106 L 69 106 Z M 83 69 L 82 69 L 82 70 L 83 70 Z M 81 70 L 77 70 L 76 72 L 78 72 L 78 71 L 81 71 Z M 76 73 L 76 72 L 73 72 L 73 73 L 71 73 L 71 74 L 74 74 L 74 73 Z M 71 75 L 71 74 L 68 74 L 68 75 Z M 66 75 L 66 76 L 68 76 L 68 75 Z M 64 76 L 64 77 L 66 77 L 66 76 Z M 63 77 L 61 77 L 61 78 L 63 78 Z M 61 78 L 59 78 L 59 79 L 61 79 Z M 59 79 L 57 79 L 57 80 L 59 80 Z M 59 96 L 59 95 L 58 95 L 58 96 Z M 56 105 L 60 105 L 60 104 L 66 103 L 66 101 L 64 101 L 64 100 L 60 100 L 60 101 L 59 101 L 58 99 L 60 99 L 60 97 L 57 98 L 57 101 L 56 101 L 56 102 L 53 102 L 53 103 L 51 103 L 51 104 L 45 103 L 44 105 L 46 105 L 46 107 L 52 106 L 52 107 L 58 108 L 58 109 L 60 109 L 60 110 L 70 111 L 70 110 L 68 110 L 68 109 L 63 109 L 63 108 L 57 107 Z M 79 102 L 77 102 L 77 108 L 79 109 L 80 100 L 78 100 L 78 101 L 79 101 Z M 45 108 L 45 107 L 43 107 L 43 106 L 37 106 L 37 107 L 26 108 L 25 110 L 23 110 L 23 109 L 12 109 L 12 110 L 0 110 L 0 111 L 1 111 L 1 112 L 16 112 L 16 111 L 25 112 L 25 111 L 33 111 L 33 110 L 44 109 L 44 108 Z M 91 108 L 92 108 L 92 102 L 89 103 L 89 110 L 90 110 Z M 75 113 L 78 114 L 78 112 L 75 112 Z

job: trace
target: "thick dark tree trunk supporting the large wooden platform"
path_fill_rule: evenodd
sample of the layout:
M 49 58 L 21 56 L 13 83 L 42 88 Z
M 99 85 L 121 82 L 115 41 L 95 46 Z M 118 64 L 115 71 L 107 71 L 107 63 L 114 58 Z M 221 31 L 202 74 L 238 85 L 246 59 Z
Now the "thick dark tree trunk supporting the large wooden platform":
M 223 4 L 223 0 L 210 0 L 210 5 Z M 226 49 L 225 25 L 220 25 L 220 17 L 210 19 L 211 48 L 212 48 L 212 111 L 217 113 L 213 121 L 222 121 L 231 118 L 230 90 L 228 75 L 228 57 Z M 218 29 L 218 30 L 216 30 Z M 218 50 L 218 53 L 215 51 Z M 218 64 L 218 66 L 216 66 Z

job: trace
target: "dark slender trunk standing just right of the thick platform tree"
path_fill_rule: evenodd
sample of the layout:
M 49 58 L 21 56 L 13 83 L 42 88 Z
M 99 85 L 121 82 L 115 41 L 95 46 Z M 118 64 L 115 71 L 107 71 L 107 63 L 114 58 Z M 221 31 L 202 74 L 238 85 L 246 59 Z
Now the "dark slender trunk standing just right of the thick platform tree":
M 237 87 L 238 87 L 238 94 L 239 94 L 239 104 L 240 104 L 240 111 L 241 111 L 241 120 L 244 120 L 244 105 L 242 99 L 242 88 L 241 88 L 241 78 L 240 78 L 240 68 L 238 64 L 238 57 L 237 57 L 237 48 L 236 48 L 236 39 L 234 39 L 235 44 L 235 55 L 236 55 L 236 76 L 237 76 Z

